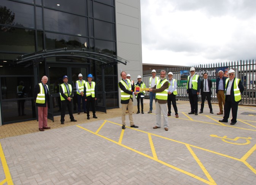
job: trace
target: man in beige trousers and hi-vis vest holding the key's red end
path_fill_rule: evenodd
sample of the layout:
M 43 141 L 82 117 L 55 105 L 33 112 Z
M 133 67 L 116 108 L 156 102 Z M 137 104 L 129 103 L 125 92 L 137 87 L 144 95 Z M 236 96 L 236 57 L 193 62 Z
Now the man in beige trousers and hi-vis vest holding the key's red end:
M 133 99 L 132 95 L 137 95 L 137 92 L 134 92 L 134 87 L 132 87 L 131 81 L 126 78 L 126 72 L 121 72 L 121 81 L 118 83 L 121 93 L 121 105 L 122 105 L 122 129 L 125 129 L 125 112 L 126 108 L 128 108 L 130 127 L 138 128 L 138 126 L 134 125 L 134 120 L 132 118 L 133 112 Z

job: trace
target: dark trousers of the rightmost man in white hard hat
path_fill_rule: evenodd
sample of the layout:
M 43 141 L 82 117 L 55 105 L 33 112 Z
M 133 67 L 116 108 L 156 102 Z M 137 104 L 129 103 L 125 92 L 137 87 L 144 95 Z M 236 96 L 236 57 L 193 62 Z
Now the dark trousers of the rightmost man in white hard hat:
M 232 109 L 232 123 L 237 122 L 237 109 L 238 109 L 238 102 L 232 103 L 231 96 L 226 95 L 225 105 L 224 105 L 224 117 L 223 120 L 227 121 L 229 119 L 230 109 Z

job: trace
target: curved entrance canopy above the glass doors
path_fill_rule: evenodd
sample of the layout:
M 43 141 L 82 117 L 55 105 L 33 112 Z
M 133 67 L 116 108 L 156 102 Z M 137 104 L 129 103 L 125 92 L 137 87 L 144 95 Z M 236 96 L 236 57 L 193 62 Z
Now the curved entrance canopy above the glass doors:
M 21 55 L 13 60 L 14 65 L 30 63 L 30 62 L 41 62 L 45 58 L 49 57 L 78 57 L 85 58 L 90 60 L 96 60 L 105 65 L 112 65 L 118 62 L 126 65 L 127 60 L 122 59 L 116 55 L 104 52 L 104 51 L 96 51 L 93 49 L 87 48 L 61 48 L 61 49 L 49 49 L 42 50 L 38 52 L 33 52 L 25 55 Z

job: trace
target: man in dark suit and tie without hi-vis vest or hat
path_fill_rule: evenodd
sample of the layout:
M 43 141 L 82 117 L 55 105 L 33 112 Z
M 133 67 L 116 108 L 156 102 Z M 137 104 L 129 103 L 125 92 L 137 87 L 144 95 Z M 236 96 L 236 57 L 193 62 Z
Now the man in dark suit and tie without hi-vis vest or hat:
M 212 106 L 211 106 L 211 87 L 212 87 L 212 82 L 211 82 L 210 79 L 208 79 L 208 74 L 207 73 L 204 73 L 203 77 L 204 77 L 204 79 L 201 80 L 201 85 L 200 85 L 201 109 L 200 109 L 199 114 L 203 113 L 203 111 L 204 111 L 205 97 L 207 97 L 208 106 L 210 108 L 210 113 L 213 114 Z

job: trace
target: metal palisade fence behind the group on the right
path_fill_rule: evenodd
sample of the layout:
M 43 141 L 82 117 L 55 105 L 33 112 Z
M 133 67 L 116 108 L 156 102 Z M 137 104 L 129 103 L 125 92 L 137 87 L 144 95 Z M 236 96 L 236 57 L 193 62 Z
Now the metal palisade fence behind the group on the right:
M 207 65 L 197 65 L 197 66 L 178 66 L 178 67 L 163 67 L 161 70 L 165 70 L 168 74 L 169 72 L 173 73 L 173 78 L 177 80 L 177 91 L 178 95 L 176 95 L 176 100 L 189 100 L 188 94 L 186 93 L 186 85 L 189 76 L 189 69 L 194 67 L 196 69 L 196 74 L 200 76 L 200 79 L 203 79 L 203 74 L 208 74 L 208 79 L 211 79 L 213 87 L 212 87 L 212 95 L 211 102 L 218 103 L 217 95 L 216 95 L 216 79 L 218 78 L 218 71 L 222 70 L 224 72 L 224 76 L 228 77 L 227 72 L 230 69 L 235 70 L 235 77 L 242 80 L 242 83 L 245 87 L 245 90 L 242 94 L 242 101 L 240 104 L 248 104 L 248 105 L 256 105 L 256 64 L 254 60 L 240 60 L 237 62 L 223 62 L 223 63 L 213 63 Z M 153 67 L 154 68 L 154 67 Z M 156 76 L 160 78 L 160 71 L 156 70 Z M 168 76 L 166 74 L 166 78 Z M 148 88 L 149 85 L 149 77 L 152 77 L 151 70 L 143 71 L 143 82 L 146 84 Z M 149 98 L 149 92 L 146 92 L 145 98 Z M 198 100 L 200 101 L 200 95 Z

